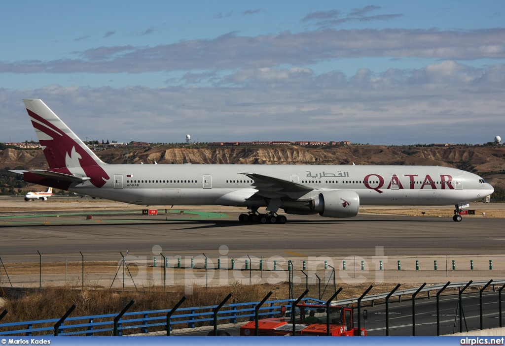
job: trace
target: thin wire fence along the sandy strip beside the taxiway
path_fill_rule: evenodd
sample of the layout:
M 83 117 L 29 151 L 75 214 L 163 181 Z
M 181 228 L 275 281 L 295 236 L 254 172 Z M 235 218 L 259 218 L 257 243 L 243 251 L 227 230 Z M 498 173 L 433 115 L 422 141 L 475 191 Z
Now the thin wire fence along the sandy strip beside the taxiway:
M 272 256 L 26 254 L 1 256 L 1 287 L 142 290 L 148 287 L 278 285 L 289 298 L 304 289 L 323 299 L 339 284 L 438 283 L 503 277 L 505 255 L 467 256 Z

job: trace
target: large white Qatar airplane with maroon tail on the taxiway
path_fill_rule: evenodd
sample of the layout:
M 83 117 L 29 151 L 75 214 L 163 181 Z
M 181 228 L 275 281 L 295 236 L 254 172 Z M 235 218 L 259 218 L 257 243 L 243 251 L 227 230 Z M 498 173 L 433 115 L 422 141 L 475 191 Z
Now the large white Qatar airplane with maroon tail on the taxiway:
M 494 189 L 480 176 L 439 166 L 136 165 L 102 162 L 42 100 L 23 100 L 48 169 L 14 170 L 23 180 L 138 205 L 247 207 L 241 222 L 280 223 L 285 214 L 358 215 L 361 205 L 456 206 Z M 266 207 L 266 211 L 259 209 Z

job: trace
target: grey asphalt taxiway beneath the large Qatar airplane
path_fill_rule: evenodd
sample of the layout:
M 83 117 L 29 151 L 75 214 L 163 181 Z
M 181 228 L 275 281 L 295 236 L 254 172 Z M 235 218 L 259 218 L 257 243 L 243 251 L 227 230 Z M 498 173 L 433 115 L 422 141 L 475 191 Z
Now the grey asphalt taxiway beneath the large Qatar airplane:
M 92 212 L 89 212 L 92 214 Z M 503 220 L 466 217 L 359 215 L 352 219 L 288 216 L 285 225 L 242 224 L 237 212 L 165 216 L 95 216 L 64 213 L 16 219 L 0 218 L 0 255 L 28 253 L 111 254 L 120 251 L 151 254 L 160 246 L 168 255 L 228 256 L 372 256 L 376 246 L 386 256 L 501 254 L 505 245 Z M 169 213 L 170 214 L 170 213 Z M 175 215 L 175 216 L 174 216 Z M 205 217 L 207 216 L 207 218 Z

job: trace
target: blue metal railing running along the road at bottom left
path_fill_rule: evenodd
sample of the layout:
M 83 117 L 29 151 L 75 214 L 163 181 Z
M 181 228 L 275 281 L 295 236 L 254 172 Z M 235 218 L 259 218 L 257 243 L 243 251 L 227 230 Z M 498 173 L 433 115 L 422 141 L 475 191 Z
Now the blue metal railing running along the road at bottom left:
M 303 301 L 312 301 L 317 303 L 326 303 L 318 299 L 304 298 Z M 271 300 L 265 302 L 260 308 L 259 315 L 262 318 L 274 317 L 277 311 L 280 311 L 281 306 L 286 306 L 286 313 L 290 313 L 290 307 L 293 299 Z M 224 305 L 218 312 L 218 321 L 222 323 L 237 323 L 237 318 L 254 320 L 255 307 L 259 302 L 236 303 Z M 176 314 L 172 315 L 170 325 L 187 324 L 188 328 L 195 328 L 196 323 L 203 325 L 213 325 L 214 315 L 213 310 L 217 305 L 179 308 Z M 167 325 L 167 310 L 153 310 L 140 312 L 127 312 L 119 320 L 118 330 L 121 333 L 124 330 L 134 332 L 138 329 L 140 333 L 148 333 L 149 328 L 163 326 L 166 330 Z M 68 317 L 64 324 L 59 328 L 59 335 L 87 335 L 93 336 L 95 333 L 111 333 L 114 329 L 114 318 L 116 314 L 93 315 L 81 317 Z M 1 335 L 52 335 L 54 333 L 54 325 L 59 321 L 58 318 L 13 322 L 0 324 Z M 209 323 L 207 323 L 209 322 Z M 6 330 L 13 329 L 13 330 Z M 159 328 L 158 328 L 159 329 Z

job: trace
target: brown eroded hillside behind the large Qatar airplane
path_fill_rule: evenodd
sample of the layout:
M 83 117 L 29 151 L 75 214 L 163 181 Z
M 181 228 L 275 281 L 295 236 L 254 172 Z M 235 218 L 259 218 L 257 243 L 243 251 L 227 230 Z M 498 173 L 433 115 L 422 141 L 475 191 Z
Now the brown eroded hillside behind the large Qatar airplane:
M 320 164 L 320 165 L 434 165 L 463 169 L 505 187 L 505 147 L 385 147 L 372 145 L 328 147 L 173 147 L 111 148 L 96 152 L 111 164 Z M 0 151 L 0 168 L 45 168 L 40 150 Z

